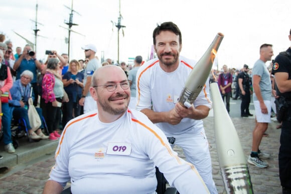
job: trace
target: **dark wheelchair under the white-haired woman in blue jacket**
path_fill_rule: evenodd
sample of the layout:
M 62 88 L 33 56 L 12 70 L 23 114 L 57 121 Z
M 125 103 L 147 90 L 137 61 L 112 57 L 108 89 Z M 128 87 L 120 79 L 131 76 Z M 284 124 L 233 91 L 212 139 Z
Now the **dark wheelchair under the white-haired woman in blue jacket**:
M 45 118 L 43 116 L 42 116 L 41 120 L 44 123 L 44 129 L 46 131 L 45 134 L 49 134 L 47 123 L 46 123 Z M 15 149 L 17 149 L 19 147 L 19 141 L 18 141 L 19 138 L 26 137 L 27 141 L 29 141 L 29 142 L 38 142 L 41 140 L 41 139 L 32 140 L 29 137 L 27 124 L 26 124 L 26 121 L 24 118 L 20 118 L 19 120 L 12 119 L 11 125 L 12 125 L 11 126 L 11 138 L 12 138 L 12 144 L 13 144 Z

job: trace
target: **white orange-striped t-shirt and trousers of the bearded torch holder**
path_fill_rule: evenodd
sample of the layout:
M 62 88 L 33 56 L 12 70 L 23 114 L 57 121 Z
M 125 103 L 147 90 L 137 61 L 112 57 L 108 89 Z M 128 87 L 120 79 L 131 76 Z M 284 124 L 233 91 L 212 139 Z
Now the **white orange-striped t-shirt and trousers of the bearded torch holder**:
M 184 89 L 188 75 L 196 61 L 185 57 L 179 58 L 178 68 L 171 73 L 163 71 L 159 59 L 143 64 L 136 75 L 137 110 L 153 109 L 166 112 L 175 107 Z M 209 94 L 209 80 L 194 101 L 194 107 L 204 105 L 212 108 Z M 156 123 L 167 137 L 175 137 L 175 144 L 183 148 L 186 159 L 194 164 L 211 193 L 217 193 L 212 179 L 211 156 L 205 135 L 203 121 L 183 118 L 177 125 L 166 122 Z

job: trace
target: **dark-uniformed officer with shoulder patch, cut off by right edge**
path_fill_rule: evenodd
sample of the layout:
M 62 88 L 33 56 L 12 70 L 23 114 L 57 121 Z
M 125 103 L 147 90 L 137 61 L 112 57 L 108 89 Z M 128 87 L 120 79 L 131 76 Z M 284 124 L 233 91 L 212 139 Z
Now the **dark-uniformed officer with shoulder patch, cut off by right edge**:
M 291 30 L 289 32 L 291 41 Z M 279 103 L 278 118 L 282 120 L 279 177 L 282 193 L 291 193 L 291 47 L 281 52 L 274 60 L 272 73 L 275 75 L 276 95 Z

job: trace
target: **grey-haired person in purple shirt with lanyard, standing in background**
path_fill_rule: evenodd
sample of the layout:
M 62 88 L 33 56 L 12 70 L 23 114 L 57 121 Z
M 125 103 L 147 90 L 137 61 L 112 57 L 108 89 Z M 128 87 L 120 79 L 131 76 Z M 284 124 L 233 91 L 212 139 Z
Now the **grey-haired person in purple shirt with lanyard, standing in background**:
M 226 110 L 229 114 L 229 100 L 231 96 L 232 75 L 230 74 L 230 72 L 228 72 L 227 65 L 224 65 L 222 68 L 223 68 L 223 73 L 219 75 L 218 85 L 220 88 L 220 93 L 221 93 L 223 101 L 225 97 Z

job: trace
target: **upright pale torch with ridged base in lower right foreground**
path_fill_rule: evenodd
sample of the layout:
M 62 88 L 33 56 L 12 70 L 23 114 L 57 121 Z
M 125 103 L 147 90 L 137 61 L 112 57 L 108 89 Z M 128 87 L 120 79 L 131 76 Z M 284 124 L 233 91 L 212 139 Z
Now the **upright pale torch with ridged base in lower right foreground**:
M 216 82 L 210 84 L 210 92 L 214 112 L 215 143 L 226 193 L 253 193 L 244 152 Z

